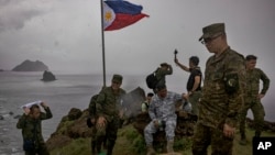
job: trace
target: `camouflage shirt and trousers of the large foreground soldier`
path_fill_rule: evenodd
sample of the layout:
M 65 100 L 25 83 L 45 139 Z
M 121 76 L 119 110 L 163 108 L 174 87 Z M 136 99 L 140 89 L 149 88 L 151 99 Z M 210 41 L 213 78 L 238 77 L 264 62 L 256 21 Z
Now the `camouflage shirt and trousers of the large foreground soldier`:
M 223 124 L 237 126 L 238 112 L 243 104 L 244 58 L 228 47 L 219 57 L 211 56 L 206 64 L 205 82 L 199 104 L 199 120 L 194 135 L 194 155 L 231 155 L 233 139 L 223 135 Z M 230 79 L 237 80 L 231 90 Z

